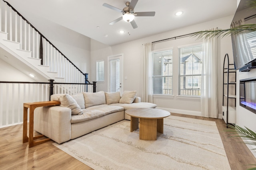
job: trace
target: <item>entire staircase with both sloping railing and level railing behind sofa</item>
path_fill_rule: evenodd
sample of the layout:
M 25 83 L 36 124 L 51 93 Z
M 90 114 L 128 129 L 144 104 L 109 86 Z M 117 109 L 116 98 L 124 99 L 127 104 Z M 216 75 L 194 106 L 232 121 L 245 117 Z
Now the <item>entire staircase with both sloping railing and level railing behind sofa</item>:
M 36 82 L 0 80 L 0 128 L 23 123 L 24 103 L 47 101 L 57 93 L 96 92 L 96 82 L 91 84 L 88 74 L 4 0 L 0 0 L 0 23 L 0 62 L 26 75 L 36 74 Z

